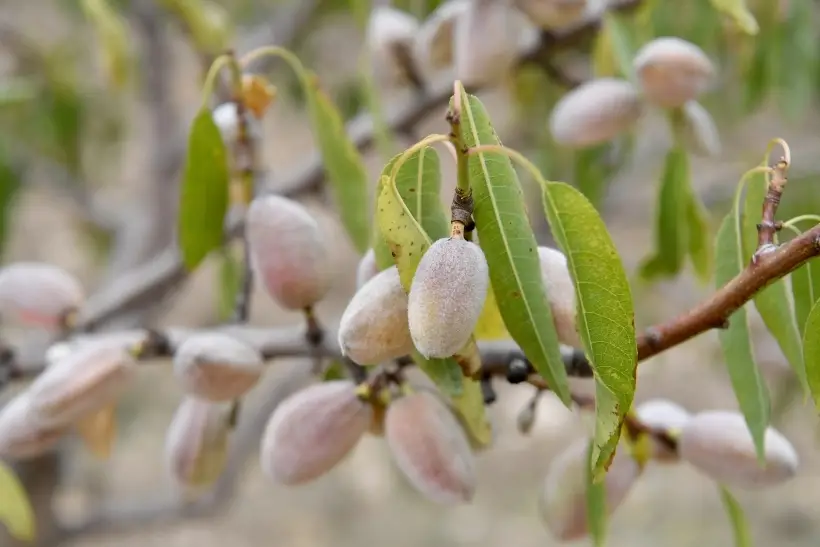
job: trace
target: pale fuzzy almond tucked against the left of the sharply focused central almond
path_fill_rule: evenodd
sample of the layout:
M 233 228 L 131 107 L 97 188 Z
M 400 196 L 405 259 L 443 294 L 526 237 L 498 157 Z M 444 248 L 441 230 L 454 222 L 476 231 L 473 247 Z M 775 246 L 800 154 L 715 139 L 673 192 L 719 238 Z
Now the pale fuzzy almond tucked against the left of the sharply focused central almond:
M 413 339 L 407 323 L 407 300 L 395 266 L 365 283 L 339 321 L 342 354 L 361 365 L 410 354 Z

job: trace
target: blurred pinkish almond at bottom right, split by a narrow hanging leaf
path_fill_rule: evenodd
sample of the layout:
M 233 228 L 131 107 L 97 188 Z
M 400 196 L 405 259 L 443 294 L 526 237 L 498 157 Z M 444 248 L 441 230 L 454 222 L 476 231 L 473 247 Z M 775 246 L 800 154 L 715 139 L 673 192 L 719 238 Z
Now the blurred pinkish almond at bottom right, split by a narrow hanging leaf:
M 560 541 L 580 539 L 589 533 L 586 506 L 589 443 L 588 439 L 582 439 L 556 456 L 541 488 L 541 518 Z M 641 466 L 629 454 L 627 447 L 619 446 L 604 479 L 608 515 L 620 506 L 641 471 Z

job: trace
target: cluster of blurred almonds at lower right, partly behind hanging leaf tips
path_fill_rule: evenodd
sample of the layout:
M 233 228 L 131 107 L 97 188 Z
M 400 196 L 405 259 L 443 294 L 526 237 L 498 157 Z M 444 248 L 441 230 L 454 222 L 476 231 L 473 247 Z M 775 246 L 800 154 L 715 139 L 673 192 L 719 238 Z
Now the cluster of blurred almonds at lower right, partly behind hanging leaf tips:
M 686 462 L 728 488 L 771 487 L 792 478 L 799 465 L 797 452 L 778 431 L 765 433 L 765 465 L 757 460 L 754 442 L 743 415 L 725 410 L 690 414 L 665 399 L 647 401 L 635 409 L 640 422 L 655 435 L 649 449 L 622 440 L 604 479 L 607 513 L 624 501 L 650 461 L 660 465 Z M 664 440 L 665 439 L 665 440 Z M 547 529 L 561 541 L 589 533 L 586 507 L 589 439 L 567 446 L 553 459 L 539 493 L 539 510 Z

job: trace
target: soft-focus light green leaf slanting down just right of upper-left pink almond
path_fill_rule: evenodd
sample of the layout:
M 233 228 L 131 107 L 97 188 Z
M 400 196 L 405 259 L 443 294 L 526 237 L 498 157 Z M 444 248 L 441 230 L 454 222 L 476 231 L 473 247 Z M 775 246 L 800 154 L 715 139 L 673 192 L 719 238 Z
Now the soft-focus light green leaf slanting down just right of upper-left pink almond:
M 342 223 L 356 249 L 363 253 L 370 239 L 367 171 L 362 156 L 345 131 L 339 110 L 319 87 L 316 75 L 305 72 L 302 82 L 313 131 L 322 153 Z

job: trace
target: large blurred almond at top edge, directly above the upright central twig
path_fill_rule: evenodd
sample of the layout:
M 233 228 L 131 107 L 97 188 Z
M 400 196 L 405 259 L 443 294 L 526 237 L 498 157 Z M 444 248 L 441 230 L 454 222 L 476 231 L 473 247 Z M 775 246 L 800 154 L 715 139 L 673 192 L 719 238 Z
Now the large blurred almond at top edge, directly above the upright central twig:
M 467 86 L 498 84 L 515 65 L 521 42 L 532 39 L 534 31 L 506 2 L 473 0 L 453 30 L 456 78 Z

